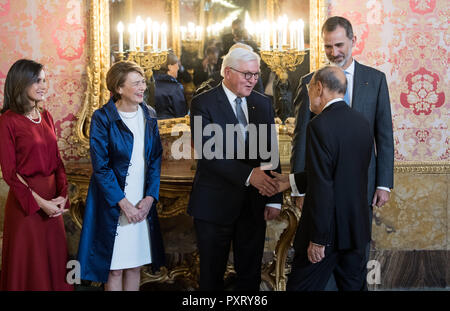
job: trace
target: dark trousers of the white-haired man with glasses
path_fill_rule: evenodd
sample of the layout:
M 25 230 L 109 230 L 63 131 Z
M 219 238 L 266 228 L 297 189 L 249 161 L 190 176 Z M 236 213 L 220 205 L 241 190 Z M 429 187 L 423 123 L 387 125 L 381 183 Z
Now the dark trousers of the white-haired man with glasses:
M 248 210 L 244 208 L 237 221 L 230 225 L 194 219 L 200 253 L 200 290 L 224 290 L 231 244 L 236 271 L 234 289 L 259 290 L 266 222 L 262 213 L 261 218 L 255 219 Z

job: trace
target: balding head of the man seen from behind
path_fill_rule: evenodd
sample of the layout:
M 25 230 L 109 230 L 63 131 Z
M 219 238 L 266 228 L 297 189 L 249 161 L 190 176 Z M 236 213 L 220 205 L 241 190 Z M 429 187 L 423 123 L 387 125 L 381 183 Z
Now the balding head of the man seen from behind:
M 317 70 L 311 81 L 322 83 L 324 89 L 336 97 L 343 97 L 347 91 L 347 78 L 344 71 L 338 66 L 325 66 Z

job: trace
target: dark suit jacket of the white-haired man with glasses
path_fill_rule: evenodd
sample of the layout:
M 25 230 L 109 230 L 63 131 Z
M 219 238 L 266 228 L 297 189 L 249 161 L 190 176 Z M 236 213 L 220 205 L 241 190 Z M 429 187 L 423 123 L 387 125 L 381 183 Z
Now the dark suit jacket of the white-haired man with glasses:
M 257 128 L 261 124 L 266 125 L 267 149 L 263 149 L 270 150 L 270 128 L 271 124 L 274 124 L 272 105 L 266 96 L 255 91 L 246 99 L 249 125 L 255 124 Z M 199 116 L 202 121 L 201 128 L 197 128 L 200 125 L 195 123 L 196 116 Z M 224 133 L 223 139 L 219 138 L 223 142 L 223 148 L 219 150 L 219 147 L 215 145 L 214 149 L 223 159 L 203 157 L 198 160 L 188 205 L 189 215 L 216 224 L 232 224 L 243 208 L 250 208 L 255 217 L 263 217 L 264 207 L 267 203 L 282 203 L 281 194 L 267 198 L 261 196 L 253 186 L 245 186 L 253 168 L 259 167 L 262 162 L 270 162 L 270 158 L 264 158 L 264 155 L 259 152 L 259 137 L 262 135 L 263 129 L 257 130 L 258 139 L 249 139 L 249 141 L 255 142 L 255 145 L 249 147 L 247 142 L 245 146 L 246 151 L 249 148 L 256 151 L 256 158 L 251 159 L 249 153 L 246 152 L 245 158 L 236 159 L 238 136 L 235 134 L 233 137 L 227 137 L 226 125 L 234 126 L 239 123 L 228 102 L 222 84 L 192 99 L 191 134 L 193 135 L 194 145 L 196 145 L 196 139 L 201 139 L 201 142 L 197 141 L 197 143 L 200 142 L 199 145 L 203 148 L 211 137 L 217 135 L 197 137 L 199 135 L 196 134 L 196 131 L 202 133 L 205 127 L 210 124 L 218 125 Z M 218 137 L 216 136 L 216 138 Z M 229 145 L 226 143 L 227 140 L 230 143 Z M 230 152 L 231 145 L 234 147 L 234 159 L 227 159 L 227 150 Z M 201 150 L 196 151 L 197 154 L 201 154 Z M 278 152 L 278 150 L 275 152 Z M 278 165 L 276 171 L 281 171 L 280 165 Z

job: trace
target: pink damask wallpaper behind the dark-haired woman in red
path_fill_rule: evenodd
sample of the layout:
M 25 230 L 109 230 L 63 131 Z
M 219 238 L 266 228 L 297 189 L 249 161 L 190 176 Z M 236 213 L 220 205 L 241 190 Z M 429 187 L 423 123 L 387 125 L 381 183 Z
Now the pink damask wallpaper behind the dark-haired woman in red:
M 55 120 L 64 160 L 77 159 L 68 138 L 86 90 L 87 3 L 80 0 L 0 0 L 0 106 L 6 74 L 18 59 L 45 66 L 43 106 Z

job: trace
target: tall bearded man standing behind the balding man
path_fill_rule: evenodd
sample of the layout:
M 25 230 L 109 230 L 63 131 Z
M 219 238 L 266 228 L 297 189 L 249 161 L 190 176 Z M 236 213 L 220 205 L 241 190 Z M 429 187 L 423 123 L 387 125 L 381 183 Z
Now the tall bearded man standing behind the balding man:
M 366 117 L 374 135 L 367 187 L 369 220 L 372 223 L 372 207 L 381 207 L 389 200 L 390 189 L 394 184 L 394 142 L 386 76 L 353 59 L 352 48 L 355 46 L 356 37 L 347 19 L 339 16 L 328 18 L 322 26 L 322 37 L 328 60 L 346 72 L 347 104 Z M 313 73 L 301 79 L 294 100 L 296 124 L 292 140 L 292 173 L 305 169 L 306 127 L 314 117 L 309 109 L 306 85 L 312 75 Z M 297 198 L 296 204 L 301 208 L 303 198 Z M 366 251 L 366 260 L 368 259 L 369 244 Z M 331 288 L 335 288 L 333 282 Z

